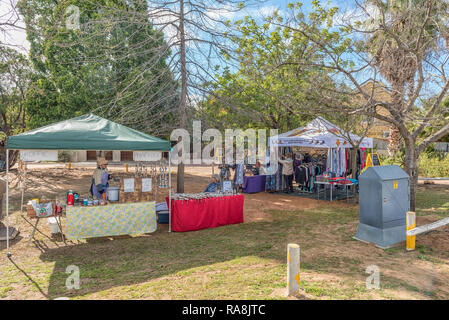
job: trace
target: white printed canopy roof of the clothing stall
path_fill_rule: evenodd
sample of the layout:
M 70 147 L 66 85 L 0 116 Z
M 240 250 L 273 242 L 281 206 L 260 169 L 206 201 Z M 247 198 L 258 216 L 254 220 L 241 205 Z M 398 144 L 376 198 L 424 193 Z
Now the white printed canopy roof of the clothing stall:
M 270 137 L 268 143 L 274 147 L 352 148 L 348 137 L 354 143 L 361 140 L 359 136 L 346 133 L 326 119 L 318 117 L 305 127 Z M 359 147 L 372 148 L 373 139 L 363 138 Z

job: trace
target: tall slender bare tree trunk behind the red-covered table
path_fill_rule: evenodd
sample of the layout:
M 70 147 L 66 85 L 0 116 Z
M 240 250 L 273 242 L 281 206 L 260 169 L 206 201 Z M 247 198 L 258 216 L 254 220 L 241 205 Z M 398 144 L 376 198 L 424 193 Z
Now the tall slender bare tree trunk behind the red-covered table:
M 179 124 L 181 128 L 186 125 L 186 101 L 187 101 L 187 68 L 186 68 L 186 43 L 184 31 L 184 0 L 179 1 L 179 37 L 180 37 L 180 59 L 181 59 L 181 99 L 179 103 Z M 176 174 L 176 190 L 184 193 L 184 163 L 178 164 Z

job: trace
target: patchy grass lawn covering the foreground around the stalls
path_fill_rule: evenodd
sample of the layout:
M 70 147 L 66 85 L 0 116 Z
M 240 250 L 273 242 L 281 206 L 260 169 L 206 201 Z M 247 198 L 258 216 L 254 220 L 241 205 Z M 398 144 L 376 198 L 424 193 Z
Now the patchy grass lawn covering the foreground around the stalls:
M 418 225 L 449 216 L 447 187 L 421 186 L 418 206 Z M 352 239 L 358 207 L 345 201 L 260 210 L 269 219 L 170 234 L 159 225 L 150 235 L 68 246 L 38 234 L 30 246 L 14 242 L 12 260 L 2 244 L 0 298 L 286 299 L 288 243 L 301 246 L 306 299 L 449 298 L 449 228 L 418 236 L 416 251 L 405 244 L 384 251 Z M 79 290 L 66 289 L 69 265 L 79 267 Z M 380 269 L 380 290 L 366 289 L 370 265 Z

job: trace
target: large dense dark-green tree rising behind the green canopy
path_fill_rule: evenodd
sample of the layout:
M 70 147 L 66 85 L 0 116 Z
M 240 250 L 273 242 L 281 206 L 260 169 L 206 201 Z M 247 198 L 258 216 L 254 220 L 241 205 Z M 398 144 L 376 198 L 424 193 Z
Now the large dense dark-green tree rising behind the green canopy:
M 177 83 L 165 62 L 170 51 L 159 50 L 164 37 L 145 18 L 147 9 L 143 0 L 22 1 L 37 71 L 26 103 L 29 125 L 95 111 L 167 134 Z M 68 26 L 70 19 L 78 24 Z

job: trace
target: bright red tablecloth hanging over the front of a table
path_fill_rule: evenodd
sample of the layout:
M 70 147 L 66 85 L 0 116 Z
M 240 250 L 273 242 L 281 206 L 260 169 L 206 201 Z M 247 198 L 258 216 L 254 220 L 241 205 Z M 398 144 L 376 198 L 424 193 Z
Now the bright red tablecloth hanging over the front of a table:
M 184 232 L 243 223 L 243 195 L 201 200 L 173 200 L 172 231 Z M 168 205 L 168 197 L 165 198 Z

